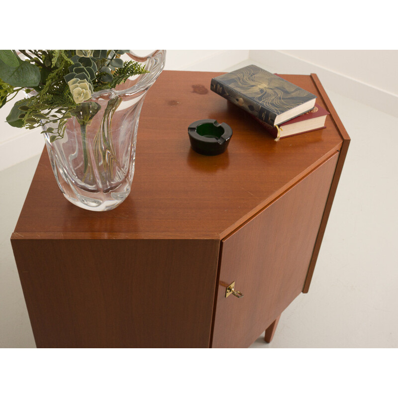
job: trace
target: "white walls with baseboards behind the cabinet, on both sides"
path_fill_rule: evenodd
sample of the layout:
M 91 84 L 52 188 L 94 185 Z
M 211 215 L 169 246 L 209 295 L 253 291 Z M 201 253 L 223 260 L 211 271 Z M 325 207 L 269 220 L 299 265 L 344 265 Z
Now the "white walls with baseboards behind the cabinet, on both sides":
M 221 72 L 249 63 L 270 72 L 316 73 L 326 92 L 398 116 L 397 50 L 168 50 L 165 69 Z M 7 103 L 0 109 L 0 170 L 39 154 L 44 146 L 40 129 L 5 122 L 11 107 Z

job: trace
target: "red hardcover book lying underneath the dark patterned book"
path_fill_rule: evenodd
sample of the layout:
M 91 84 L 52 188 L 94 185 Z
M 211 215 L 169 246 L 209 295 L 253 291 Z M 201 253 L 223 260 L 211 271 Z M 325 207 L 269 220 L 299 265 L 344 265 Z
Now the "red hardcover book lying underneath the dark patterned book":
M 262 126 L 264 126 L 265 129 L 276 138 L 276 140 L 279 140 L 280 138 L 325 128 L 326 116 L 328 114 L 329 112 L 326 109 L 318 103 L 315 103 L 315 106 L 308 112 L 290 119 L 279 126 L 271 126 L 259 118 L 255 116 L 253 117 Z

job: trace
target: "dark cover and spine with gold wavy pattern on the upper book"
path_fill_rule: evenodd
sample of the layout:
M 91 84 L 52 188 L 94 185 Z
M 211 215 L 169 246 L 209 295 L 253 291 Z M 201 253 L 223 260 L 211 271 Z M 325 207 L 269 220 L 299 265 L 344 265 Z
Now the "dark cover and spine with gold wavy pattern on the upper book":
M 277 115 L 316 98 L 255 65 L 213 78 L 210 89 L 272 126 Z

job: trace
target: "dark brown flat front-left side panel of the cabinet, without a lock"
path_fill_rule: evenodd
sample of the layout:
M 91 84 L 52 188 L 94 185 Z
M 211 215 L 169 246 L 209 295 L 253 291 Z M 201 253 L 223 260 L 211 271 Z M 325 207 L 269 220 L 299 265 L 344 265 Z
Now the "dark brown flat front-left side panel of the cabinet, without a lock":
M 12 241 L 37 347 L 208 347 L 217 240 Z

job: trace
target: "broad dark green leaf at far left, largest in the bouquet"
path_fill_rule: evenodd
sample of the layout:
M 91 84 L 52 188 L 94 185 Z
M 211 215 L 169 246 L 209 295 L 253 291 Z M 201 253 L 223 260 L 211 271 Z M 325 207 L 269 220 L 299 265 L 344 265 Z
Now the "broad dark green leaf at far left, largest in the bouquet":
M 36 87 L 40 83 L 40 69 L 27 61 L 13 68 L 0 60 L 0 79 L 13 87 Z

